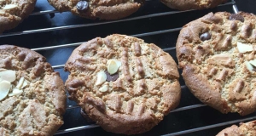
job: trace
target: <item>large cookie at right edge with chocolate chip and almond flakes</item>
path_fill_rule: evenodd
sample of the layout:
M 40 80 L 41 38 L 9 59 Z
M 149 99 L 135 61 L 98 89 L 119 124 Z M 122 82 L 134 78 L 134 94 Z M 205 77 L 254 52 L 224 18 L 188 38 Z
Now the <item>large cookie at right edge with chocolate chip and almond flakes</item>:
M 223 113 L 256 111 L 256 16 L 207 14 L 183 26 L 178 66 L 201 102 Z

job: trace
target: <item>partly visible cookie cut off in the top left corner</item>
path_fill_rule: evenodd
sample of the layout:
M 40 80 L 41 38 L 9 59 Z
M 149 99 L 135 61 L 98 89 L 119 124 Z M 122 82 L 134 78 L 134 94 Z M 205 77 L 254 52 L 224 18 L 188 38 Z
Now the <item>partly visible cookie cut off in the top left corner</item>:
M 35 7 L 36 0 L 0 0 L 0 33 L 18 26 Z

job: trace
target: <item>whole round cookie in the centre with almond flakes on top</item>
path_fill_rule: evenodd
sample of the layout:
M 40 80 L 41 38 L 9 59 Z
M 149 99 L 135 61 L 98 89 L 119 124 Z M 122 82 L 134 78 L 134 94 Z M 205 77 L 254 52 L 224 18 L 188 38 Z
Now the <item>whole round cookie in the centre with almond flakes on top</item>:
M 153 43 L 114 34 L 73 51 L 65 86 L 94 122 L 113 133 L 144 133 L 180 99 L 177 65 Z

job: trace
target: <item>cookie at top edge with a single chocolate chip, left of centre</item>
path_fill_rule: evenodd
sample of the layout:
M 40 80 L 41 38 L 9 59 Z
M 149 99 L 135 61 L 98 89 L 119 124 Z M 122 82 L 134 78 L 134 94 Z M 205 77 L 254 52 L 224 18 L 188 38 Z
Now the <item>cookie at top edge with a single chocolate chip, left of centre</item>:
M 116 20 L 135 13 L 145 0 L 48 0 L 48 2 L 60 12 L 71 11 L 88 19 Z

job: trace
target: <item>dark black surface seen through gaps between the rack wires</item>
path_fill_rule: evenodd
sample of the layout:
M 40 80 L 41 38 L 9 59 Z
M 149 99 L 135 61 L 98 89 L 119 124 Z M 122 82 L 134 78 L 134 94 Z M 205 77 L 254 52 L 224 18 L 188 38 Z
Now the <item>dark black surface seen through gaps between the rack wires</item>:
M 256 14 L 256 1 L 255 0 L 236 0 L 237 7 L 239 10 Z M 53 10 L 46 0 L 38 0 L 35 8 L 37 11 Z M 171 8 L 167 8 L 164 4 L 157 0 L 147 1 L 143 8 L 132 14 L 130 17 L 137 17 L 146 14 L 158 14 L 164 12 L 176 11 Z M 189 23 L 191 20 L 195 20 L 209 12 L 228 11 L 232 12 L 232 5 L 221 6 L 218 8 L 206 9 L 201 11 L 189 11 L 178 14 L 160 15 L 152 18 L 140 19 L 140 20 L 129 20 L 118 23 L 111 23 L 98 26 L 84 26 L 73 29 L 58 29 L 56 31 L 48 31 L 49 28 L 62 27 L 62 26 L 76 26 L 80 24 L 90 24 L 97 22 L 104 22 L 103 20 L 87 20 L 74 16 L 70 13 L 56 13 L 54 18 L 50 18 L 49 14 L 31 15 L 28 19 L 24 20 L 20 26 L 13 30 L 5 31 L 3 35 L 0 35 L 0 44 L 13 44 L 25 48 L 43 48 L 49 46 L 56 46 L 61 44 L 69 44 L 75 42 L 86 42 L 95 37 L 106 37 L 113 33 L 120 33 L 125 35 L 136 35 L 145 32 L 152 31 L 163 31 L 173 28 L 179 28 Z M 44 32 L 29 33 L 34 30 L 45 29 Z M 21 32 L 18 36 L 8 36 L 15 32 Z M 160 48 L 172 48 L 175 47 L 177 36 L 179 31 L 166 32 L 162 34 L 140 37 L 145 42 L 153 42 Z M 15 33 L 17 34 L 17 33 Z M 8 36 L 8 37 L 7 37 Z M 43 54 L 51 65 L 64 65 L 69 55 L 72 53 L 75 47 L 69 48 L 58 48 L 38 51 L 39 54 Z M 172 57 L 177 61 L 175 50 L 168 51 Z M 67 72 L 64 72 L 62 68 L 55 69 L 61 73 L 61 78 L 65 82 L 67 79 Z M 181 79 L 181 85 L 184 85 Z M 189 105 L 197 105 L 201 102 L 190 94 L 188 88 L 182 89 L 182 98 L 180 105 L 177 108 L 181 108 Z M 76 105 L 73 101 L 67 99 L 67 105 Z M 80 116 L 79 108 L 67 109 L 64 116 L 65 124 L 60 130 L 81 127 L 88 124 L 82 116 Z M 218 111 L 213 110 L 208 106 L 195 108 L 192 110 L 177 111 L 169 114 L 164 118 L 158 126 L 154 127 L 147 133 L 141 135 L 162 135 L 168 133 L 176 133 L 183 130 L 188 130 L 196 127 L 205 127 L 212 124 L 218 124 L 222 122 L 234 121 L 237 119 L 244 119 L 247 117 L 256 116 L 255 113 L 249 116 L 239 116 L 236 113 L 221 114 Z M 214 127 L 203 131 L 197 131 L 195 133 L 186 133 L 183 135 L 216 135 L 224 127 Z M 90 129 L 80 130 L 73 133 L 65 133 L 61 135 L 77 135 L 77 136 L 90 136 L 90 135 L 118 135 L 114 133 L 105 132 L 101 127 L 94 127 Z

